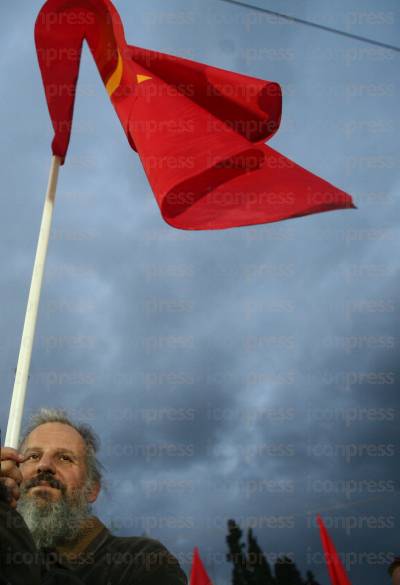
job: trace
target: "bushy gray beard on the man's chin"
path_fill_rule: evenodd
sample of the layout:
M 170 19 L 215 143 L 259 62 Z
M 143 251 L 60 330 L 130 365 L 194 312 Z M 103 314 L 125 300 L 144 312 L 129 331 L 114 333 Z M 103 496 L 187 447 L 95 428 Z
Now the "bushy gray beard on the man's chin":
M 91 508 L 85 488 L 69 495 L 62 489 L 60 500 L 31 496 L 21 486 L 17 510 L 25 520 L 37 548 L 54 548 L 78 540 Z

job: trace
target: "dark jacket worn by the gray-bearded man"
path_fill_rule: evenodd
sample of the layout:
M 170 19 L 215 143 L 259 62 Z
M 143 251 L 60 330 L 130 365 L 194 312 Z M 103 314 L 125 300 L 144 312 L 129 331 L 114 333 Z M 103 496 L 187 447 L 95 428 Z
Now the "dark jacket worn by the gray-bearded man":
M 157 540 L 118 537 L 95 517 L 73 547 L 35 548 L 24 520 L 0 499 L 0 585 L 187 585 Z

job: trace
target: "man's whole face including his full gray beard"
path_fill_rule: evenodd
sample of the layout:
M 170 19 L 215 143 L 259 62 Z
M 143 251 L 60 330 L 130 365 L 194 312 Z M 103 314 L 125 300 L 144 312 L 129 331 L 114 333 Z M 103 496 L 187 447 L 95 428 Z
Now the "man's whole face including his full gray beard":
M 79 538 L 100 486 L 86 473 L 85 443 L 63 423 L 45 423 L 33 430 L 21 448 L 23 481 L 17 510 L 38 548 L 71 543 Z

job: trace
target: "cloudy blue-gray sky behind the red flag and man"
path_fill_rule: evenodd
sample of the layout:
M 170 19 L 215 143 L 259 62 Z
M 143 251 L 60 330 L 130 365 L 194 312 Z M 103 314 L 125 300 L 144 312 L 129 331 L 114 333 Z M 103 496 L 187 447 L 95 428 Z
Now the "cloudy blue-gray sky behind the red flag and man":
M 7 425 L 52 138 L 33 44 L 7 3 L 0 198 L 0 424 Z M 220 232 L 166 225 L 85 48 L 26 403 L 93 425 L 96 513 L 230 583 L 226 522 L 327 585 L 323 514 L 354 585 L 398 539 L 399 53 L 220 0 L 115 0 L 129 43 L 282 85 L 271 146 L 357 210 Z M 259 6 L 399 44 L 396 0 Z M 26 419 L 25 419 L 26 420 Z M 3 435 L 4 436 L 4 435 Z

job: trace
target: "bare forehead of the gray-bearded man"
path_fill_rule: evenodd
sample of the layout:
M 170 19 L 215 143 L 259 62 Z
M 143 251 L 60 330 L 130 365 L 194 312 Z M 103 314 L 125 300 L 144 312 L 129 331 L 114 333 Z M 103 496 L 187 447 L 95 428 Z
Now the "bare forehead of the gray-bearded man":
M 24 441 L 24 449 L 27 450 L 31 446 L 41 448 L 65 449 L 76 453 L 85 450 L 85 442 L 81 434 L 64 423 L 44 423 L 39 425 Z

